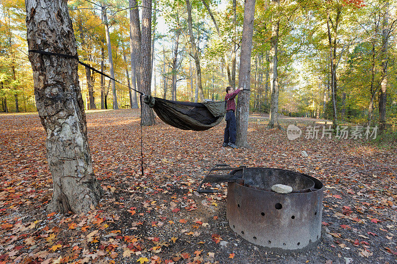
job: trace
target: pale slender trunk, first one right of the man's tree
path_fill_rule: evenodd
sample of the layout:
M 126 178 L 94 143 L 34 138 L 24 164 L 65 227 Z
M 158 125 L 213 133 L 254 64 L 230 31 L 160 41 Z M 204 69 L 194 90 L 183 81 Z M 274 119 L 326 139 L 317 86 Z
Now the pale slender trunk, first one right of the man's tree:
M 278 7 L 280 1 L 272 0 L 272 4 L 275 8 Z M 278 30 L 280 25 L 280 19 L 278 12 L 273 13 L 273 25 L 271 27 L 271 47 L 270 47 L 270 112 L 269 112 L 269 124 L 268 128 L 274 127 L 279 128 L 278 124 L 278 74 L 277 74 L 277 50 L 278 50 Z

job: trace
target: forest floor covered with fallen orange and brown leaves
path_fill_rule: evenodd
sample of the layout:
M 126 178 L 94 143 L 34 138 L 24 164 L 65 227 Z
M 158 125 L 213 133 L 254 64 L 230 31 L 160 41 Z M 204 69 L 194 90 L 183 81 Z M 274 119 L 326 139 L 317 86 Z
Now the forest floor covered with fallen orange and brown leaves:
M 93 167 L 104 190 L 85 215 L 47 212 L 52 180 L 37 114 L 0 115 L 0 264 L 3 263 L 396 263 L 397 147 L 369 140 L 288 140 L 252 115 L 251 149 L 222 147 L 225 123 L 204 132 L 139 113 L 87 111 Z M 303 128 L 314 119 L 282 118 Z M 303 157 L 305 150 L 308 157 Z M 322 236 L 314 249 L 276 253 L 234 233 L 226 187 L 199 195 L 216 163 L 302 172 L 324 183 Z M 348 178 L 345 178 L 348 177 Z M 356 181 L 357 180 L 357 181 Z

